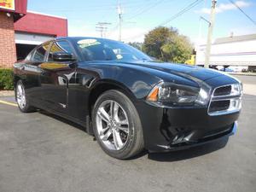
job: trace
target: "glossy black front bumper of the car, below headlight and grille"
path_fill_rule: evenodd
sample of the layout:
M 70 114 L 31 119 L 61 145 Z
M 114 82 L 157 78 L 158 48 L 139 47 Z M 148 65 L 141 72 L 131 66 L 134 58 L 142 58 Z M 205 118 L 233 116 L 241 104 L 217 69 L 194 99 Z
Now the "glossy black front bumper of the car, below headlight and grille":
M 181 150 L 230 137 L 240 113 L 210 116 L 207 108 L 157 108 L 145 102 L 138 103 L 137 110 L 150 152 Z

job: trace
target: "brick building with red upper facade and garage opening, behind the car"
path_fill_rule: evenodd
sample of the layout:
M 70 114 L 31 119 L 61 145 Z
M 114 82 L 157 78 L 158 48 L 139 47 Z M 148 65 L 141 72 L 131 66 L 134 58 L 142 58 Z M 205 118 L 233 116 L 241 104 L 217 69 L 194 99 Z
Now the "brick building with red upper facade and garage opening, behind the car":
M 26 10 L 27 0 L 0 0 L 0 67 L 12 67 L 38 44 L 67 36 L 67 19 Z

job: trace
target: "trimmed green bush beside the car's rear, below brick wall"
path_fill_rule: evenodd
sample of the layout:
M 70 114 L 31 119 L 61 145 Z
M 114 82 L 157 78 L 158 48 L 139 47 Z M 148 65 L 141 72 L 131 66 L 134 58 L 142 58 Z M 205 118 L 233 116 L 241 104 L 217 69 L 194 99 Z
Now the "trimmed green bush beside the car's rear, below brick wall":
M 0 68 L 0 90 L 14 90 L 14 73 L 12 69 Z

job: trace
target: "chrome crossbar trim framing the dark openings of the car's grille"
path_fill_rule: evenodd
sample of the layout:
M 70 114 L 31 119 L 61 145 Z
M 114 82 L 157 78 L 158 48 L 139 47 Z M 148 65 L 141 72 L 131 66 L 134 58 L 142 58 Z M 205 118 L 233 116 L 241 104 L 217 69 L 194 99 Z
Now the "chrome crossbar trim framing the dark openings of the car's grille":
M 219 88 L 222 87 L 228 87 L 228 86 L 239 86 L 239 94 L 232 94 L 232 91 L 230 91 L 230 94 L 228 95 L 222 95 L 222 96 L 215 96 L 215 91 L 218 90 Z M 231 87 L 232 88 L 232 87 Z M 210 98 L 210 102 L 208 104 L 208 108 L 207 108 L 207 113 L 210 116 L 216 116 L 216 115 L 223 115 L 223 114 L 228 114 L 228 113 L 236 113 L 239 112 L 241 109 L 241 95 L 242 95 L 242 87 L 241 84 L 225 84 L 223 86 L 218 86 L 216 88 L 214 88 L 214 90 L 212 91 L 212 96 Z M 211 104 L 212 102 L 221 102 L 221 101 L 229 101 L 230 102 L 230 106 L 227 109 L 224 110 L 219 110 L 219 111 L 211 111 Z M 235 107 L 232 106 L 235 104 Z

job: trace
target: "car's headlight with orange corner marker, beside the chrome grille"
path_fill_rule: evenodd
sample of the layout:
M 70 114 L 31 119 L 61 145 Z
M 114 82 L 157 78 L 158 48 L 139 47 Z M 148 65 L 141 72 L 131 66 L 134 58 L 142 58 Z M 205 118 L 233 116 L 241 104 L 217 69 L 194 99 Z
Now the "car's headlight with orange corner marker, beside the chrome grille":
M 150 91 L 147 100 L 166 106 L 190 106 L 194 103 L 205 105 L 209 101 L 209 90 L 204 87 L 160 83 Z

